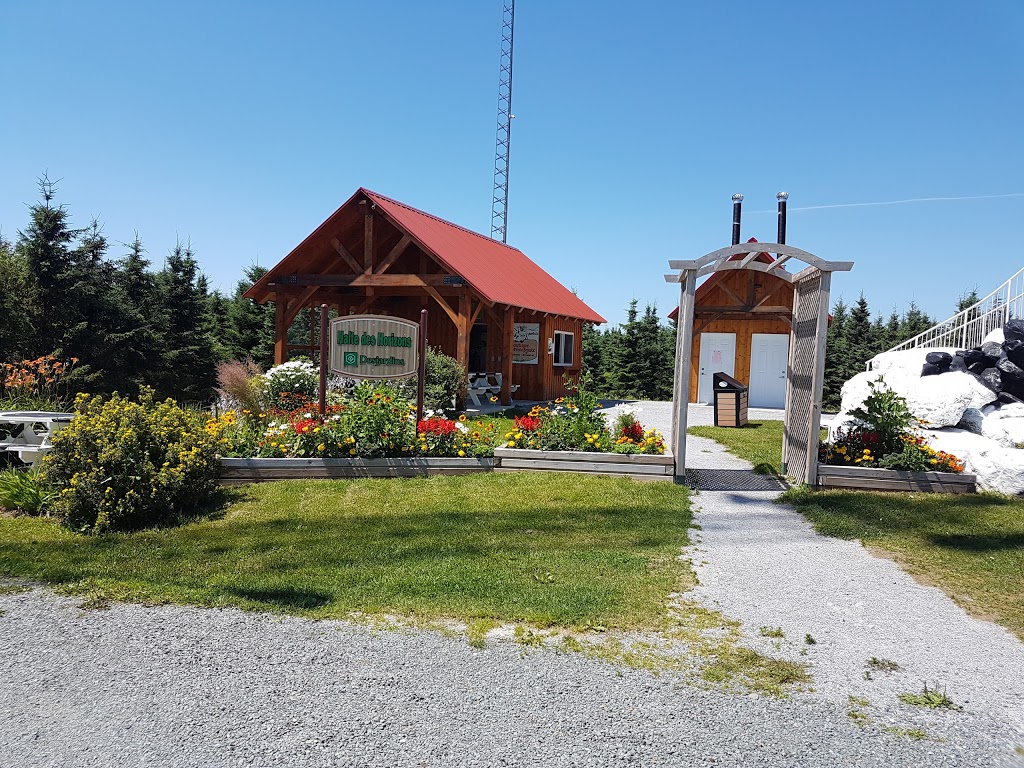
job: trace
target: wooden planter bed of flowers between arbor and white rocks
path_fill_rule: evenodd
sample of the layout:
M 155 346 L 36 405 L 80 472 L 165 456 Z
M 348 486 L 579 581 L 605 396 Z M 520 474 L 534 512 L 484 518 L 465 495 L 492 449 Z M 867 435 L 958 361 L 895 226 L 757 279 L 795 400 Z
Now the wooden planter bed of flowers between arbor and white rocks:
M 974 475 L 964 462 L 936 451 L 916 432 L 921 423 L 906 399 L 871 382 L 864 404 L 851 412 L 857 424 L 818 446 L 819 487 L 973 494 Z

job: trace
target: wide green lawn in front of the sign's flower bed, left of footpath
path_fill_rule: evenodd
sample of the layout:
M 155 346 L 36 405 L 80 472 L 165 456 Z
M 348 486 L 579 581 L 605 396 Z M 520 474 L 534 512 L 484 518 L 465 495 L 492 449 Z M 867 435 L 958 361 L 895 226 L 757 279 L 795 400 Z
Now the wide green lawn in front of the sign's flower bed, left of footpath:
M 692 584 L 686 489 L 569 474 L 294 480 L 216 518 L 83 537 L 0 518 L 0 575 L 96 600 L 648 628 Z

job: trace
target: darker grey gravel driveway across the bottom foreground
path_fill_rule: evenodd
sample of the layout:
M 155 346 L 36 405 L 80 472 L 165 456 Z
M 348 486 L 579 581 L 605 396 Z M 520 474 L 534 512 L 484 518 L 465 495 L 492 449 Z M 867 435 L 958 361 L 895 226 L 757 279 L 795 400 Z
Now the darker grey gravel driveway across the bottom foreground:
M 0 764 L 977 766 L 1004 739 L 862 729 L 577 654 L 237 610 L 0 597 Z M 912 717 L 912 714 L 911 714 Z M 906 722 L 916 722 L 908 719 Z M 970 724 L 965 720 L 963 723 Z

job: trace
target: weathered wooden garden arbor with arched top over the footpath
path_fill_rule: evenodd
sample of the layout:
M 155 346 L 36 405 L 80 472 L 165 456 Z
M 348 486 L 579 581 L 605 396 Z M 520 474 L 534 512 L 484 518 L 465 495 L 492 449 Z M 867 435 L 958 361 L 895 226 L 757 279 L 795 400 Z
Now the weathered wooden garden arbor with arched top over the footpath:
M 777 254 L 777 258 L 771 263 L 763 263 L 758 260 L 758 254 L 764 252 Z M 807 264 L 806 268 L 796 274 L 780 268 L 794 258 Z M 681 478 L 686 472 L 688 387 L 697 279 L 723 270 L 749 269 L 773 274 L 794 287 L 790 364 L 785 387 L 782 471 L 796 477 L 798 482 L 814 484 L 817 479 L 817 447 L 821 424 L 821 393 L 824 387 L 825 335 L 828 330 L 831 273 L 849 271 L 853 268 L 853 262 L 825 261 L 807 251 L 779 243 L 743 243 L 721 248 L 693 261 L 672 260 L 669 262 L 669 268 L 679 271 L 665 275 L 666 282 L 680 284 L 672 423 L 676 477 Z M 756 311 L 758 307 L 716 307 L 716 309 L 728 314 Z

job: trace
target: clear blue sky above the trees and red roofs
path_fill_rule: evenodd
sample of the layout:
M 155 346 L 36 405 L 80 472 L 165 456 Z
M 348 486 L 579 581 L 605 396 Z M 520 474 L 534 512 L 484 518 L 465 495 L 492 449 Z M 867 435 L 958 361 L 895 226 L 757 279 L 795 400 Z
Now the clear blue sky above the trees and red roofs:
M 489 232 L 501 0 L 4 0 L 0 230 L 74 221 L 272 265 L 364 185 Z M 1024 265 L 1024 2 L 519 0 L 509 242 L 613 323 L 672 258 L 775 238 L 945 316 Z M 919 198 L 992 197 L 800 210 Z M 760 213 L 759 213 L 760 211 Z M 116 246 L 113 255 L 123 248 Z

